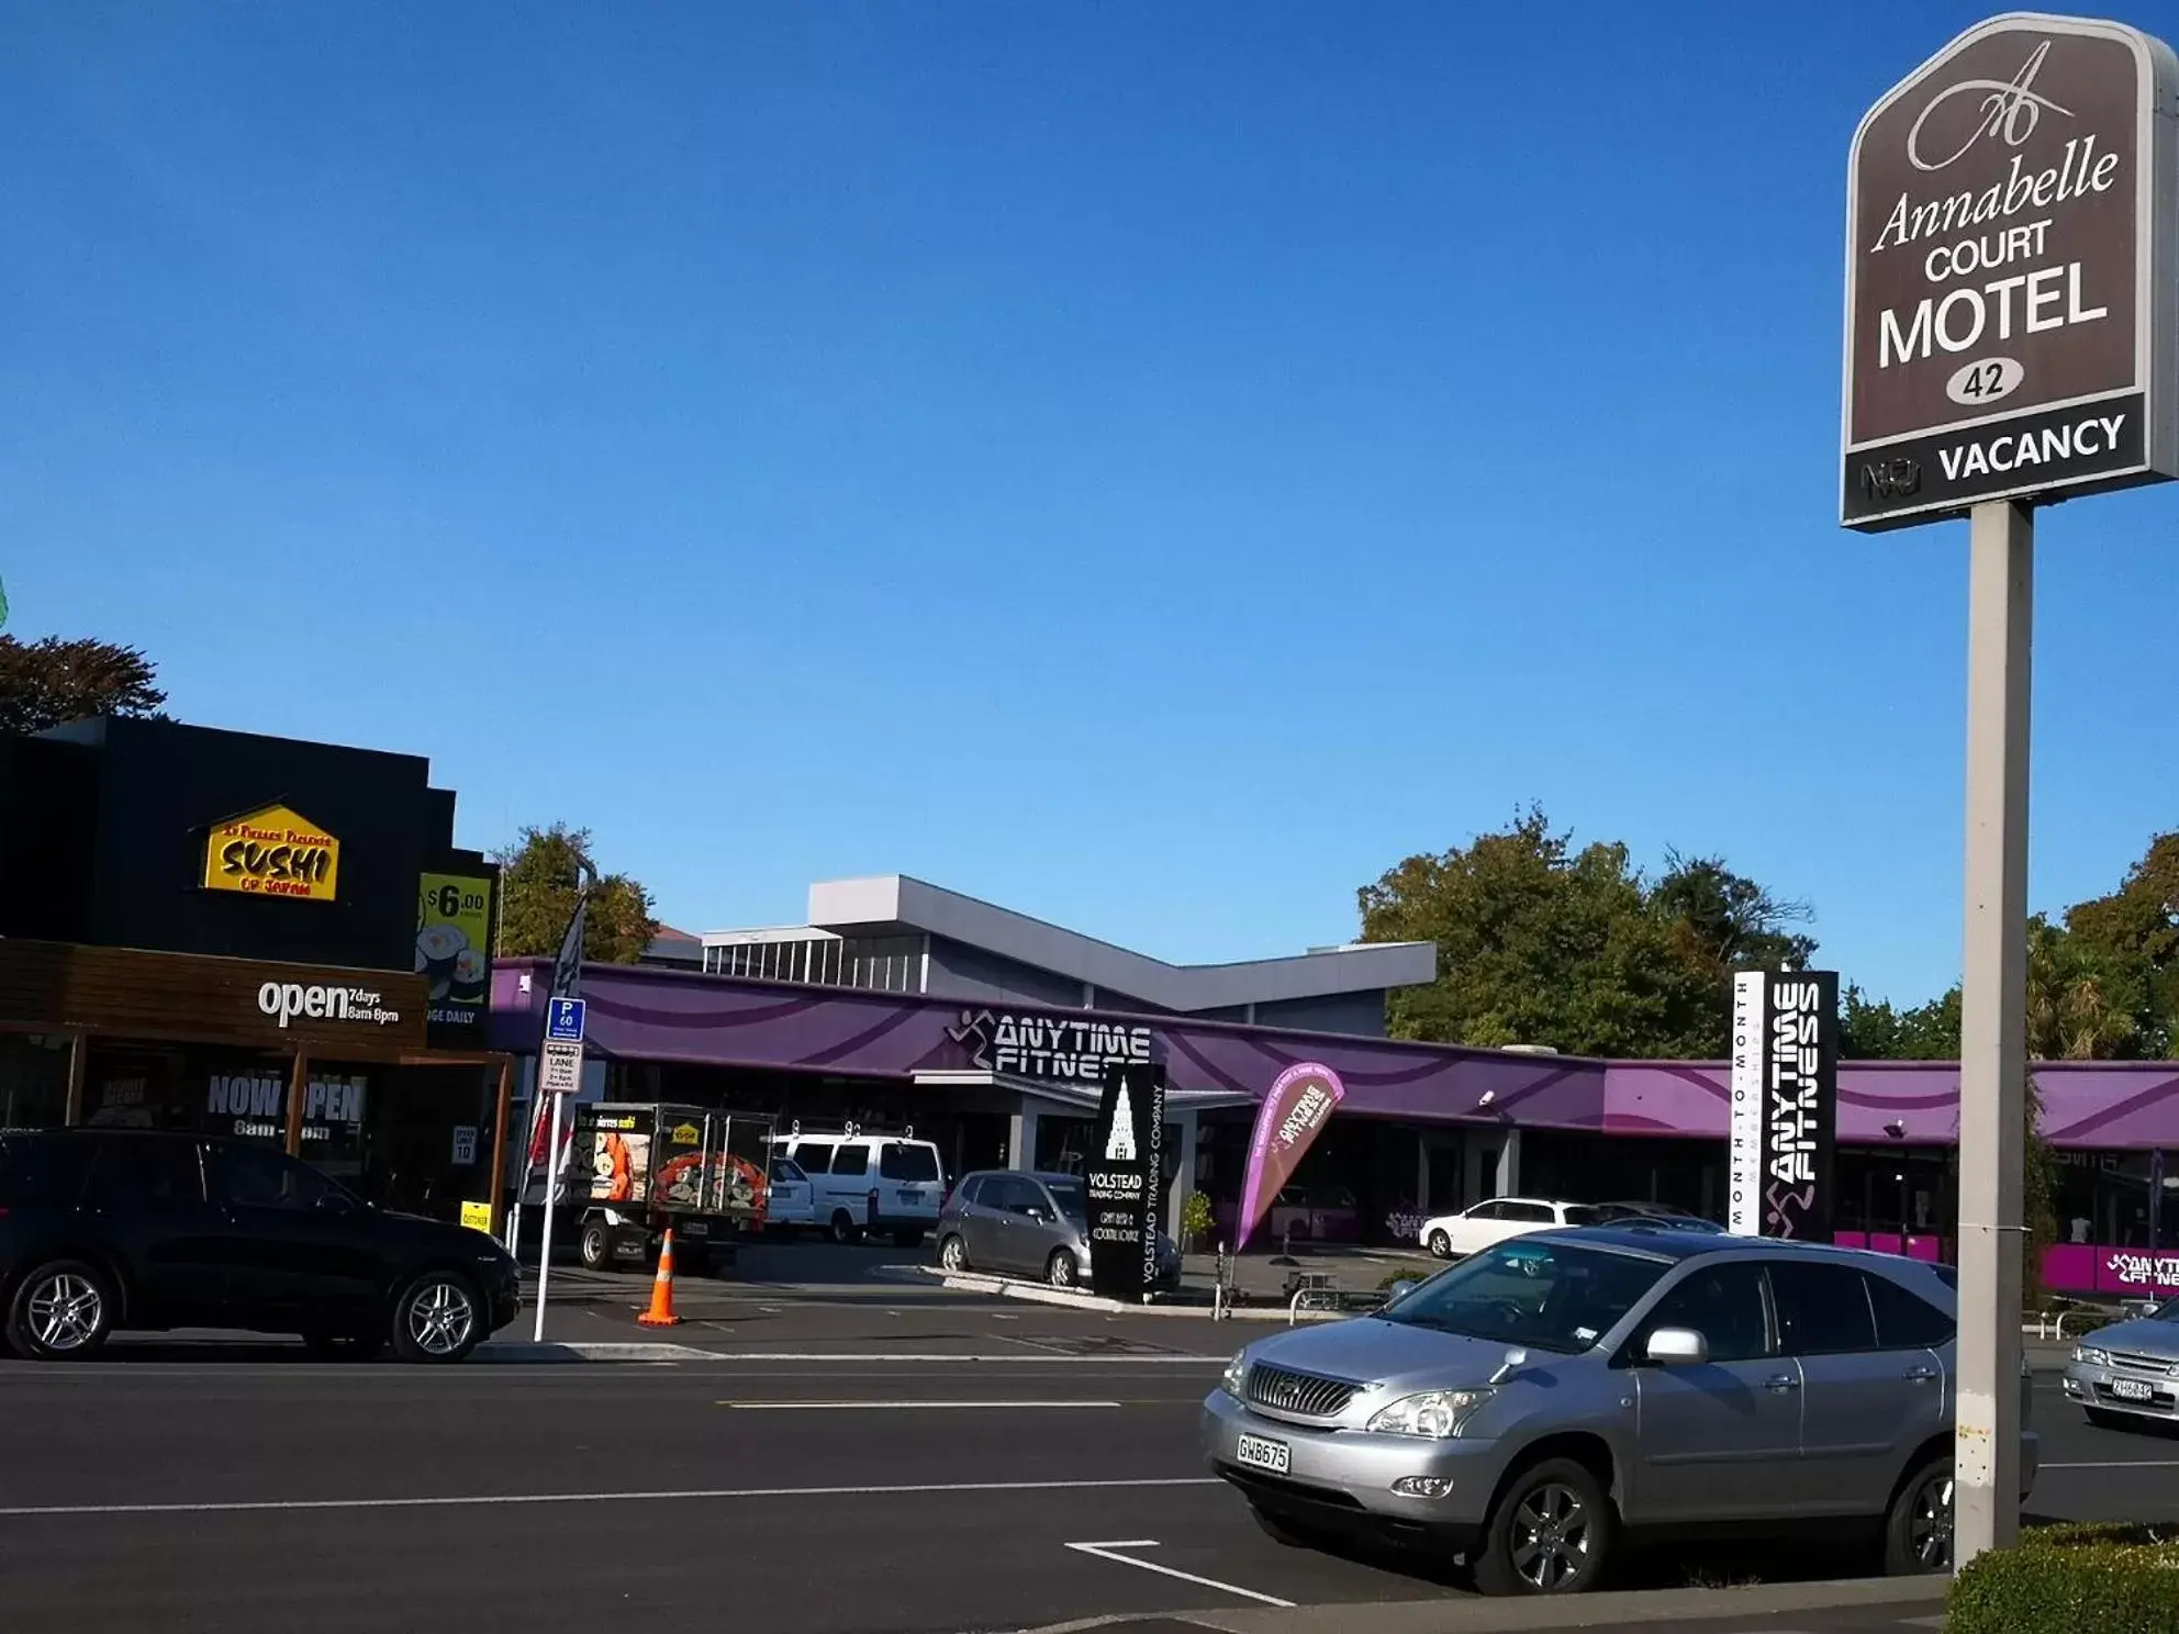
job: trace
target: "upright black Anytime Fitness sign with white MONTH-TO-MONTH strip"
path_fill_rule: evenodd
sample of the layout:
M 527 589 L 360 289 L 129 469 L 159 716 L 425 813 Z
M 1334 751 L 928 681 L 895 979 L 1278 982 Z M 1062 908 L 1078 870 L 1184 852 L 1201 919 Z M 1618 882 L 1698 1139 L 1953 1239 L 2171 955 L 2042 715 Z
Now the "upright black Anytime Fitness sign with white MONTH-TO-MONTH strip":
M 1837 1126 L 1839 974 L 1734 974 L 1728 1229 L 1830 1242 Z

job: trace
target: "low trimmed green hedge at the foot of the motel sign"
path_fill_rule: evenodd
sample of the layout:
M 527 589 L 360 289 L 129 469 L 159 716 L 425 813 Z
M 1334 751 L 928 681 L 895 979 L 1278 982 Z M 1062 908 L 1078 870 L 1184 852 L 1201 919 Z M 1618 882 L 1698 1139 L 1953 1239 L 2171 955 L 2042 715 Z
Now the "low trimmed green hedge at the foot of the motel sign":
M 2172 1634 L 2179 1527 L 2042 1527 L 1968 1562 L 1946 1634 Z

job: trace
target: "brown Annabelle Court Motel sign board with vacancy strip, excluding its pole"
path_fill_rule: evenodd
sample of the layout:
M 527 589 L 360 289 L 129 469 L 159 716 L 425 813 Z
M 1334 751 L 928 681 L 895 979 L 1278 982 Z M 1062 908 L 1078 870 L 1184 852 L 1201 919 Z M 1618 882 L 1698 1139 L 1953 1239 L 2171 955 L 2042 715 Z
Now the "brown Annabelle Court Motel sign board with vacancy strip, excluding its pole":
M 2179 61 L 2133 28 L 1970 28 L 1854 133 L 1839 514 L 2179 475 Z

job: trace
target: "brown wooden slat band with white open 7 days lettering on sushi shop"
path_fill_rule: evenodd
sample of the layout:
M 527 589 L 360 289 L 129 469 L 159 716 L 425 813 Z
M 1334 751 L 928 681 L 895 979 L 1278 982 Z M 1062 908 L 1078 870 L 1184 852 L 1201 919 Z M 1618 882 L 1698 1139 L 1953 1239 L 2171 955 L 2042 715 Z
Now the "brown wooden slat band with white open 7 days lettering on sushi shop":
M 399 1022 L 333 1022 L 296 1015 L 285 1028 L 257 1009 L 266 983 L 364 987 Z M 272 965 L 137 948 L 0 939 L 0 1022 L 85 1028 L 129 1037 L 233 1039 L 338 1057 L 425 1048 L 425 978 L 392 970 Z

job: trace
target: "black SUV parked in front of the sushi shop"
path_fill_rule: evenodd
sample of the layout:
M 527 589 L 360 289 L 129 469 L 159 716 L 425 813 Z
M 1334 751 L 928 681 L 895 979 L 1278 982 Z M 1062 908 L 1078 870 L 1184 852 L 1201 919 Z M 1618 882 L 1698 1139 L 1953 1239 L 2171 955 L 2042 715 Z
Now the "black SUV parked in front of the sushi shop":
M 229 1327 L 460 1362 L 519 1303 L 514 1259 L 482 1231 L 386 1214 L 268 1146 L 0 1129 L 0 1349 L 17 1355 Z

